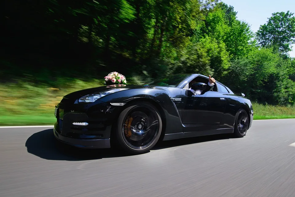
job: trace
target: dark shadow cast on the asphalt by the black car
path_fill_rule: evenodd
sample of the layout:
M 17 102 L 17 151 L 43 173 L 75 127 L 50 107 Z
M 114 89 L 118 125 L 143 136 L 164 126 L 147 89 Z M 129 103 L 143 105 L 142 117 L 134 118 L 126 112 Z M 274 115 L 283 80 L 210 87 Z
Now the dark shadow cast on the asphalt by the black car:
M 151 150 L 159 150 L 163 148 L 170 148 L 182 146 L 187 144 L 195 144 L 206 141 L 222 140 L 232 138 L 230 134 L 219 134 L 212 136 L 183 138 L 178 140 L 160 141 Z M 97 160 L 102 158 L 122 157 L 128 156 L 122 152 L 116 151 L 112 148 L 106 149 L 83 149 L 76 148 L 68 144 L 58 141 L 53 129 L 46 129 L 34 133 L 26 141 L 27 151 L 35 156 L 46 160 Z

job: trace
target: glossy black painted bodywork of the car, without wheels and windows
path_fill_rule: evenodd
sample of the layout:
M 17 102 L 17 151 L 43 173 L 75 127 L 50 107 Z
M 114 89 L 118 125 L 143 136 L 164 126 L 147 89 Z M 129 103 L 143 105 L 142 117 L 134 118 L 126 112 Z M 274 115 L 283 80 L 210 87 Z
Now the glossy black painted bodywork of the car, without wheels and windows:
M 189 90 L 183 88 L 196 76 L 208 78 L 192 74 L 177 87 L 110 85 L 70 93 L 57 105 L 59 111 L 54 134 L 57 139 L 77 147 L 109 148 L 111 131 L 115 129 L 116 120 L 124 108 L 124 106 L 113 106 L 111 103 L 128 104 L 136 100 L 151 101 L 159 108 L 164 124 L 163 140 L 232 133 L 235 116 L 240 108 L 249 113 L 249 128 L 251 127 L 253 109 L 250 100 L 219 92 L 206 92 L 203 95 L 193 96 Z M 78 99 L 85 95 L 112 88 L 127 89 L 104 96 L 93 103 L 78 103 Z M 76 126 L 72 124 L 73 122 L 87 122 L 89 125 Z

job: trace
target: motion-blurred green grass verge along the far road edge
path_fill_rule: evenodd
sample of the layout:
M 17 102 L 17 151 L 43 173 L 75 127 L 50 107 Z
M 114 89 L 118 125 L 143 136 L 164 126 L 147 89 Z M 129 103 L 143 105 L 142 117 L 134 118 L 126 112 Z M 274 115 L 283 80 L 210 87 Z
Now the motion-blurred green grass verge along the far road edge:
M 132 84 L 141 84 L 136 78 Z M 29 81 L 0 84 L 0 125 L 53 125 L 55 122 L 54 106 L 68 93 L 98 87 L 103 80 L 59 81 L 59 87 L 33 84 Z M 271 106 L 253 103 L 254 120 L 295 118 L 295 107 Z

